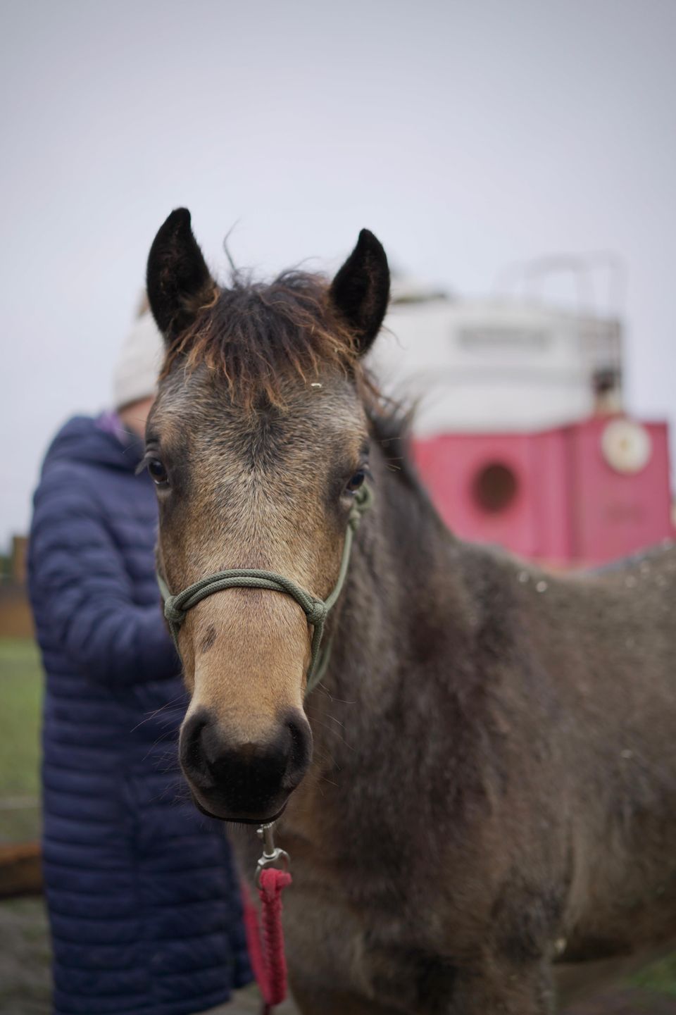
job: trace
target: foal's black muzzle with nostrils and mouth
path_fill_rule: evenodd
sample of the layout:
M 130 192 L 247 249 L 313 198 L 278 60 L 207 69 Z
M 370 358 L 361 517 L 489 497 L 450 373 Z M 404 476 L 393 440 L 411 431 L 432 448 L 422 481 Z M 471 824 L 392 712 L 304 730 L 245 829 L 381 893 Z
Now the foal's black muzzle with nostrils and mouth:
M 243 742 L 200 708 L 181 730 L 181 765 L 201 810 L 224 821 L 258 823 L 284 809 L 312 758 L 302 713 L 280 717 L 265 740 Z

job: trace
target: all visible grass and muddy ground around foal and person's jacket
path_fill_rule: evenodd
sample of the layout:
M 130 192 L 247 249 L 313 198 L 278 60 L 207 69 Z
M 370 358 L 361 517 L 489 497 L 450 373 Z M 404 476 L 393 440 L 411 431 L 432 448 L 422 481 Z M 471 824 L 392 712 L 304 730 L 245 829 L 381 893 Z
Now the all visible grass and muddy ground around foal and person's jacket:
M 32 642 L 0 640 L 0 843 L 40 833 L 42 673 Z M 0 1015 L 50 1015 L 50 951 L 42 898 L 0 903 Z M 255 988 L 210 1015 L 255 1015 Z M 293 1015 L 290 1004 L 276 1009 Z M 566 1015 L 676 1015 L 676 955 Z

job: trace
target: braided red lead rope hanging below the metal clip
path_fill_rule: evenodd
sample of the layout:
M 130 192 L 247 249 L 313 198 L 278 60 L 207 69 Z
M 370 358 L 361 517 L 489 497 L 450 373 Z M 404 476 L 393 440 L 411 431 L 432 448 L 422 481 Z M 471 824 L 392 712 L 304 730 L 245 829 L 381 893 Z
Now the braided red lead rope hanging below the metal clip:
M 261 898 L 262 940 L 258 926 L 258 910 L 252 902 L 249 889 L 245 884 L 242 886 L 249 959 L 256 983 L 263 995 L 264 1015 L 268 1015 L 273 1006 L 281 1004 L 286 997 L 281 893 L 290 883 L 291 875 L 288 871 L 278 871 L 274 867 L 261 871 L 258 894 Z

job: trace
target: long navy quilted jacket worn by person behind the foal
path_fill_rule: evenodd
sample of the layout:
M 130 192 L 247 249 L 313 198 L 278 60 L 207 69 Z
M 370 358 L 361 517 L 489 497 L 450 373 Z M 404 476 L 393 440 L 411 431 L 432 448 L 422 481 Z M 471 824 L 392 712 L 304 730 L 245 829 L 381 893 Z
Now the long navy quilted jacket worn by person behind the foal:
M 77 417 L 35 497 L 47 673 L 44 857 L 59 1015 L 183 1015 L 250 978 L 222 826 L 177 764 L 186 699 L 154 577 L 140 443 Z

